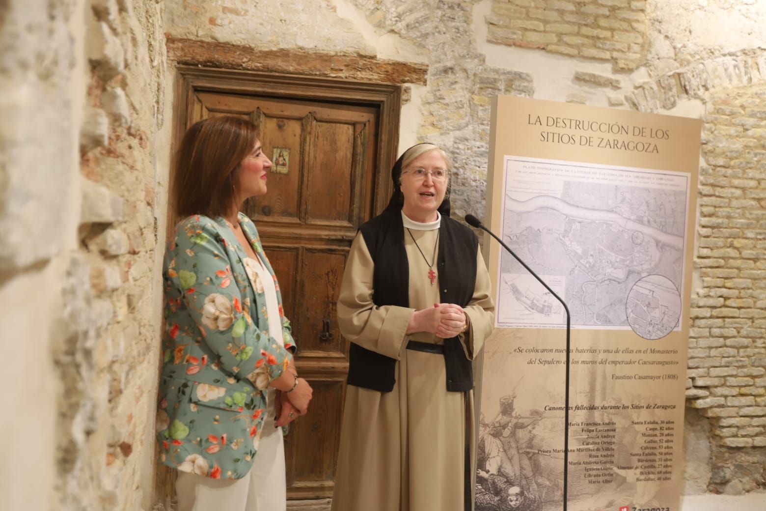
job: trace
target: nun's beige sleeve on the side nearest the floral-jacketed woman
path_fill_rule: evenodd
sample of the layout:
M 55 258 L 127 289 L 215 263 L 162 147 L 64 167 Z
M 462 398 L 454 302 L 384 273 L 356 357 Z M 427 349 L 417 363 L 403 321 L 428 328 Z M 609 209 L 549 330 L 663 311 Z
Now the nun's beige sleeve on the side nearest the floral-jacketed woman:
M 338 325 L 349 341 L 398 360 L 406 345 L 407 326 L 415 310 L 393 305 L 378 307 L 372 303 L 374 267 L 362 233 L 357 233 L 343 272 L 338 297 Z

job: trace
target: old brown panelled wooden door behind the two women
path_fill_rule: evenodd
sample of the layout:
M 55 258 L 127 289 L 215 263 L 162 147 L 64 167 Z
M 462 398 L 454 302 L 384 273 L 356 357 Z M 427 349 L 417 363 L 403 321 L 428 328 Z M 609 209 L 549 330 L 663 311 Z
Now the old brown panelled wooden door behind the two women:
M 286 437 L 288 498 L 332 496 L 349 348 L 338 330 L 336 301 L 356 229 L 388 196 L 395 152 L 378 172 L 381 150 L 388 149 L 381 148 L 383 110 L 373 102 L 205 88 L 188 94 L 184 125 L 244 116 L 258 126 L 274 162 L 267 195 L 247 201 L 244 212 L 277 273 L 297 369 L 314 389 L 309 413 Z

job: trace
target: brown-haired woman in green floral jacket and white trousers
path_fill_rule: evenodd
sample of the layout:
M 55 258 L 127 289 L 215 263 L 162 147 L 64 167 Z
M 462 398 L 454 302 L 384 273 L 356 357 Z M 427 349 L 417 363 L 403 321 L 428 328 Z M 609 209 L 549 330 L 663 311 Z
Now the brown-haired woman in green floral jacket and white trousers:
M 238 212 L 266 193 L 270 167 L 256 127 L 234 116 L 191 126 L 175 157 L 185 219 L 165 254 L 157 437 L 178 469 L 178 511 L 286 507 L 280 427 L 306 413 L 312 390 L 293 364 L 277 277 Z

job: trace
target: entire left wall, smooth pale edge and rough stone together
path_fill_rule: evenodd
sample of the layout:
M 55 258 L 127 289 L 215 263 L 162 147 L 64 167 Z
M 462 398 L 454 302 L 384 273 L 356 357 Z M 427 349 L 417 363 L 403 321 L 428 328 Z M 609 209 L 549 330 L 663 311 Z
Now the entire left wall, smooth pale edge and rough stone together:
M 149 509 L 159 2 L 0 2 L 2 509 Z M 6 314 L 8 316 L 6 316 Z M 148 492 L 148 493 L 146 493 Z

